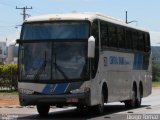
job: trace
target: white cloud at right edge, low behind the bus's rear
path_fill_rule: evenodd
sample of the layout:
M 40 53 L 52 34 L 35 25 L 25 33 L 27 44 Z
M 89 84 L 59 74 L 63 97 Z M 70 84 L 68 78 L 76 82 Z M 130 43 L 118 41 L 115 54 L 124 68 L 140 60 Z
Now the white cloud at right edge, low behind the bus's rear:
M 160 32 L 150 31 L 150 39 L 152 46 L 160 46 Z

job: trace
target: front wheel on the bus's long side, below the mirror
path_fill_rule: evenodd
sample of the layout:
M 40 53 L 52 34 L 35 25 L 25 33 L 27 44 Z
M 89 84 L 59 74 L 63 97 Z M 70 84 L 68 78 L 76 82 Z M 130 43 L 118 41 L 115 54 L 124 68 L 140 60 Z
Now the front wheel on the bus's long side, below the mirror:
M 102 93 L 101 95 L 101 104 L 95 106 L 96 112 L 98 114 L 102 114 L 104 112 L 104 94 Z

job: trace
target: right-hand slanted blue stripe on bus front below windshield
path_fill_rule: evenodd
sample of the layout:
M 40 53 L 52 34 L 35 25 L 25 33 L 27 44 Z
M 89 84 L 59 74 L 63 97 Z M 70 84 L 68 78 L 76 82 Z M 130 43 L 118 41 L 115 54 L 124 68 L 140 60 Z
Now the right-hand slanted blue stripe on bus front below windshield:
M 55 94 L 64 93 L 69 83 L 57 84 L 57 87 L 54 90 Z

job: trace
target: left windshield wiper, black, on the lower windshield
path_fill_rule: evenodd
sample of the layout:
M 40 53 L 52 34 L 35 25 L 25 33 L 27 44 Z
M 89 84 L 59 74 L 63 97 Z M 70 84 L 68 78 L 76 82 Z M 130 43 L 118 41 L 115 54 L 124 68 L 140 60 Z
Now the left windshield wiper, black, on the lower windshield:
M 45 70 L 46 63 L 47 63 L 47 60 L 46 60 L 46 56 L 47 56 L 46 55 L 46 51 L 45 51 L 44 55 L 45 55 L 44 61 L 43 61 L 42 65 L 40 66 L 40 68 L 38 69 L 37 73 L 35 74 L 34 80 L 39 79 L 39 75 Z

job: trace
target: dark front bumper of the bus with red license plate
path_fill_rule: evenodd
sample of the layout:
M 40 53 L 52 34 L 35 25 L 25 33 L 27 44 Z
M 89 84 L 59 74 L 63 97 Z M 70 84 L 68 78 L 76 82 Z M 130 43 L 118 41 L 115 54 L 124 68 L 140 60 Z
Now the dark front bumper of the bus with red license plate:
M 27 95 L 19 94 L 20 105 L 86 105 L 90 106 L 90 92 L 63 95 Z

